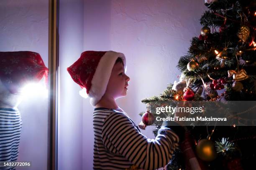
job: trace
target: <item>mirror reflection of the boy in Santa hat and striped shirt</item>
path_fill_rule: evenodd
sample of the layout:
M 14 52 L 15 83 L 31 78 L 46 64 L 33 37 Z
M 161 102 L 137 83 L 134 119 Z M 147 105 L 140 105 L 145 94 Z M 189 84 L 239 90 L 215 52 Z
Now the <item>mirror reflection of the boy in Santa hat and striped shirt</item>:
M 38 82 L 48 76 L 48 69 L 36 52 L 0 52 L 0 169 L 4 163 L 16 162 L 22 120 L 18 105 L 21 89 L 28 82 Z

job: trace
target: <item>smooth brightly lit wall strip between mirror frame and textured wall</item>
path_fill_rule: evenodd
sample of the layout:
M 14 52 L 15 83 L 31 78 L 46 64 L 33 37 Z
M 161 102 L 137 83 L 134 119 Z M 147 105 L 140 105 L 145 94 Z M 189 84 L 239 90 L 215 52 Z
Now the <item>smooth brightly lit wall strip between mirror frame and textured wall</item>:
M 59 170 L 82 170 L 82 97 L 67 72 L 83 50 L 83 0 L 59 3 Z

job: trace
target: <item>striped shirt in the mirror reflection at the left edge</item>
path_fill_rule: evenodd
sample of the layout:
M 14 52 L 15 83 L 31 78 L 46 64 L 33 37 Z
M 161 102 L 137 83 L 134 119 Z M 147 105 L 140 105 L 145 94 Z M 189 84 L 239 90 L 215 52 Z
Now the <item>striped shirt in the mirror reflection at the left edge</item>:
M 18 160 L 18 146 L 22 121 L 20 112 L 10 108 L 0 108 L 0 170 L 15 170 L 4 167 L 4 162 Z

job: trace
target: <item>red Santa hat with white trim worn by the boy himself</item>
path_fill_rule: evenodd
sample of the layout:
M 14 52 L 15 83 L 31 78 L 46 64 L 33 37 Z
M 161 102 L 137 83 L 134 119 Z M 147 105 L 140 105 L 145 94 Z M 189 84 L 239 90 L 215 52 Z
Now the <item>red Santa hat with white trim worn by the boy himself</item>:
M 115 61 L 120 57 L 126 70 L 125 56 L 123 53 L 114 51 L 85 51 L 67 71 L 74 82 L 84 89 L 91 104 L 95 106 L 105 94 L 108 80 Z

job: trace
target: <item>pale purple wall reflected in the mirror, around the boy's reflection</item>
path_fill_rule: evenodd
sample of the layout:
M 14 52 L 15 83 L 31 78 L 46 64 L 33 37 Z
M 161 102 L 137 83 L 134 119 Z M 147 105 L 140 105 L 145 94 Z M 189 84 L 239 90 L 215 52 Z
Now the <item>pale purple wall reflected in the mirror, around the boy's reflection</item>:
M 47 67 L 48 5 L 48 0 L 0 0 L 0 51 L 38 52 Z M 23 120 L 18 162 L 30 162 L 26 170 L 46 170 L 48 100 L 26 98 L 18 109 Z

